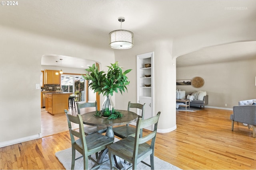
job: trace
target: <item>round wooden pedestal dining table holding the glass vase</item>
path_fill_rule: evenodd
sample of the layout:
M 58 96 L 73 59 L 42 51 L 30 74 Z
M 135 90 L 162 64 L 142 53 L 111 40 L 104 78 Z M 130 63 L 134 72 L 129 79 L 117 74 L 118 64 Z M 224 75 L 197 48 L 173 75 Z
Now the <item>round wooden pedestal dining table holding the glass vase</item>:
M 117 119 L 108 119 L 104 117 L 98 117 L 98 116 L 95 116 L 96 111 L 84 113 L 81 116 L 83 119 L 83 123 L 86 125 L 107 127 L 106 136 L 114 140 L 114 132 L 113 132 L 112 126 L 125 125 L 128 123 L 132 123 L 138 119 L 138 115 L 132 111 L 127 111 L 127 110 L 116 110 L 116 111 L 120 111 L 123 114 L 123 117 L 118 117 Z M 102 150 L 100 152 L 97 159 L 98 163 L 102 162 L 107 152 L 108 152 L 108 149 Z M 123 166 L 120 161 L 120 158 L 114 156 L 114 160 L 117 168 L 122 169 Z

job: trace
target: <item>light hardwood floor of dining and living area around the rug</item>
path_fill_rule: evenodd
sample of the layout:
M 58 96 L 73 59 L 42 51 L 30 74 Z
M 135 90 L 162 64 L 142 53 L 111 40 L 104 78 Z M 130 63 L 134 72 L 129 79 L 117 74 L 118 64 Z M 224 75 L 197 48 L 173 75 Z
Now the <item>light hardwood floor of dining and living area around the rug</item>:
M 158 133 L 155 156 L 182 169 L 256 169 L 252 129 L 234 124 L 232 111 L 177 111 L 177 129 Z M 147 133 L 147 130 L 144 131 Z M 0 169 L 64 169 L 55 152 L 69 148 L 69 132 L 0 148 Z

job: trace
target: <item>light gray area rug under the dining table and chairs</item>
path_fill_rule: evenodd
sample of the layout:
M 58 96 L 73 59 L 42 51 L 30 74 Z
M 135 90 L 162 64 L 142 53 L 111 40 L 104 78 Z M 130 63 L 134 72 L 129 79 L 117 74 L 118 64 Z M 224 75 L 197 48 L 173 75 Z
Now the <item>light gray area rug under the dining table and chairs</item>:
M 61 151 L 58 151 L 58 152 L 55 153 L 55 156 L 58 158 L 58 160 L 68 170 L 71 169 L 71 159 L 72 159 L 71 150 L 72 150 L 71 148 L 68 148 L 68 149 L 61 150 Z M 81 156 L 81 154 L 76 151 L 76 157 L 79 157 L 79 156 Z M 95 154 L 92 155 L 92 158 L 95 159 Z M 108 154 L 106 154 L 104 156 L 104 160 L 108 160 Z M 121 162 L 122 162 L 125 169 L 127 169 L 130 166 L 129 163 L 124 164 L 124 160 L 122 160 L 122 159 L 121 159 Z M 148 156 L 148 158 L 145 158 L 144 162 L 149 164 L 150 163 L 150 156 Z M 94 165 L 94 162 L 89 160 L 88 169 L 91 169 L 93 165 Z M 150 167 L 146 166 L 145 164 L 143 164 L 141 162 L 137 165 L 137 168 L 141 169 L 141 170 L 150 169 Z M 75 161 L 74 169 L 75 170 L 84 169 L 83 158 L 80 158 L 80 159 Z M 104 164 L 102 164 L 99 169 L 100 170 L 110 169 L 109 161 L 106 161 Z M 154 169 L 156 169 L 156 170 L 161 170 L 161 169 L 162 170 L 180 170 L 180 168 L 178 168 L 177 166 L 174 166 L 174 165 L 172 165 L 168 162 L 165 162 L 164 160 L 161 160 L 156 156 L 154 156 Z

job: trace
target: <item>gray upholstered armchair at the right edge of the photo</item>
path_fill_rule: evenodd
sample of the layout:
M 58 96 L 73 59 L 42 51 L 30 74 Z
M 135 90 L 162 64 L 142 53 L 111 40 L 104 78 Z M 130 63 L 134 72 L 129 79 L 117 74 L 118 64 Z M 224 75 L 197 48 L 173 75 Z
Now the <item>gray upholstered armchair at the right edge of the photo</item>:
M 256 100 L 254 99 L 254 101 L 256 101 Z M 243 101 L 241 101 L 241 102 L 243 102 Z M 250 129 L 250 125 L 252 125 L 253 137 L 255 138 L 256 105 L 234 106 L 233 114 L 230 115 L 230 120 L 232 120 L 232 128 L 231 128 L 232 131 L 234 130 L 234 121 L 248 124 L 249 129 Z

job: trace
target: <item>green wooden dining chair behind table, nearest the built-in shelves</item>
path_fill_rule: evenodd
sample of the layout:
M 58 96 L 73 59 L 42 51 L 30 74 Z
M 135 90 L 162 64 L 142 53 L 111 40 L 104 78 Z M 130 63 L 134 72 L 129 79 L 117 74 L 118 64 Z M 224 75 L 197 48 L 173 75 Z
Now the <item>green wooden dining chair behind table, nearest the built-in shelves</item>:
M 141 117 L 142 120 L 144 120 L 144 107 L 146 104 L 139 104 L 139 103 L 131 103 L 128 102 L 128 111 L 130 111 L 130 108 L 138 108 L 141 109 L 141 116 L 138 115 L 138 117 Z M 114 135 L 124 139 L 128 136 L 135 136 L 136 128 L 129 126 L 129 124 L 126 124 L 125 126 L 118 126 L 113 128 Z M 140 131 L 140 135 L 142 136 L 142 129 Z

